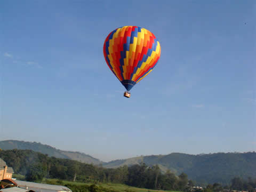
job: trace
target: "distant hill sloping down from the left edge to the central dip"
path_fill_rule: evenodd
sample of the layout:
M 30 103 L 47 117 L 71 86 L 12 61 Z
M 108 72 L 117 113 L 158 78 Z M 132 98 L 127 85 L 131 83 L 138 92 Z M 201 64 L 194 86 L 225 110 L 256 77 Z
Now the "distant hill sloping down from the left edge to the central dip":
M 34 150 L 42 154 L 47 154 L 50 157 L 56 157 L 56 158 L 67 158 L 76 160 L 82 163 L 92 163 L 92 164 L 101 164 L 102 162 L 94 158 L 90 155 L 74 152 L 74 151 L 65 151 L 56 149 L 54 147 L 43 145 L 39 142 L 27 142 L 27 141 L 17 141 L 17 140 L 5 140 L 0 141 L 0 148 L 3 150 L 11 150 L 11 149 L 29 149 Z

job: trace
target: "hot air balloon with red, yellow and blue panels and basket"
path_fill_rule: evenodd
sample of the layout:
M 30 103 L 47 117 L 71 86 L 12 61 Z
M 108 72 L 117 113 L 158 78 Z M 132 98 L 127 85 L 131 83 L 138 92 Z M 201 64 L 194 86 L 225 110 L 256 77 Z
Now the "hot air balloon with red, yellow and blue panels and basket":
M 124 26 L 107 36 L 103 54 L 108 67 L 127 90 L 124 97 L 130 98 L 132 87 L 156 66 L 161 46 L 149 30 Z

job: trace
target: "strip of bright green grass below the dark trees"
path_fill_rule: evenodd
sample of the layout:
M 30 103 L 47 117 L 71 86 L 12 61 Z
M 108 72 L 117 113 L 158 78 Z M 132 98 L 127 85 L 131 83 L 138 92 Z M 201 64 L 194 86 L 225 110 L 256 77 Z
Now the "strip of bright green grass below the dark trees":
M 55 183 L 55 185 L 87 185 L 90 186 L 95 183 L 83 183 L 83 182 L 73 182 L 73 181 L 66 181 L 66 180 L 58 180 L 58 179 L 47 179 L 44 180 L 43 182 L 47 183 Z M 118 191 L 118 192 L 174 192 L 174 191 L 164 191 L 164 190 L 153 190 L 153 189 L 143 189 L 143 188 L 137 188 L 137 187 L 131 187 L 119 183 L 97 183 L 96 184 L 98 187 L 107 189 L 108 191 Z

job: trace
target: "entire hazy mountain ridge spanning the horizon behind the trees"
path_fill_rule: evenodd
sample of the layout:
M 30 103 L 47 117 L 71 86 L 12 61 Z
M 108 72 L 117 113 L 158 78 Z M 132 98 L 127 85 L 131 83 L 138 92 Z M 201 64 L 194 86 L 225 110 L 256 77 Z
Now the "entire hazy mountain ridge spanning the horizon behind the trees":
M 40 153 L 44 151 L 48 152 L 49 156 L 102 165 L 103 167 L 111 169 L 140 163 L 145 163 L 148 166 L 157 164 L 163 172 L 170 170 L 176 175 L 184 172 L 188 175 L 189 179 L 195 180 L 198 183 L 229 183 L 230 179 L 234 177 L 244 179 L 247 179 L 247 177 L 256 178 L 256 153 L 254 151 L 246 153 L 234 152 L 198 155 L 171 153 L 167 155 L 138 156 L 102 162 L 84 153 L 63 151 L 37 142 L 6 140 L 0 141 L 0 148 L 4 150 L 14 148 L 31 149 Z

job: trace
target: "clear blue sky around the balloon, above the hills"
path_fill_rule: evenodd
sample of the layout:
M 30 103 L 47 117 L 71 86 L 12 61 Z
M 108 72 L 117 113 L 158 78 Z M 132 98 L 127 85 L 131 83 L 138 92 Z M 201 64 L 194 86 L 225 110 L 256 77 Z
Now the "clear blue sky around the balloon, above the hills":
M 0 140 L 102 161 L 256 150 L 255 1 L 1 1 Z M 123 97 L 103 58 L 110 31 L 161 43 Z

